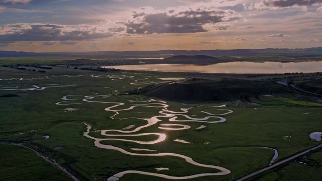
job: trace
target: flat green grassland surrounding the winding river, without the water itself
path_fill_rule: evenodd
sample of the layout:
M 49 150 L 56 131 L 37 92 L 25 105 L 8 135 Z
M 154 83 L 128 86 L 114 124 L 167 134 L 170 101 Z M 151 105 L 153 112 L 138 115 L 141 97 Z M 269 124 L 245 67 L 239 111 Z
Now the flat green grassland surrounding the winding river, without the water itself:
M 149 97 L 141 95 L 118 95 L 123 91 L 144 87 L 146 84 L 130 84 L 133 82 L 157 81 L 160 77 L 174 77 L 178 74 L 153 73 L 153 72 L 107 72 L 98 73 L 95 71 L 79 70 L 65 67 L 53 67 L 50 72 L 39 73 L 11 68 L 0 68 L 0 78 L 10 79 L 22 77 L 23 80 L 12 79 L 0 81 L 0 96 L 14 94 L 20 97 L 0 98 L 0 141 L 21 141 L 32 145 L 41 145 L 45 154 L 77 174 L 81 180 L 106 180 L 113 174 L 125 170 L 140 170 L 155 173 L 169 174 L 173 176 L 186 176 L 190 174 L 217 172 L 217 170 L 199 167 L 187 163 L 184 159 L 173 156 L 132 156 L 118 151 L 97 148 L 94 140 L 83 136 L 86 131 L 84 123 L 93 126 L 90 135 L 97 138 L 107 138 L 99 135 L 95 130 L 122 129 L 130 125 L 143 126 L 145 121 L 137 118 L 150 118 L 159 115 L 163 108 L 136 107 L 128 111 L 120 111 L 120 114 L 104 111 L 105 108 L 115 105 L 112 103 L 124 103 L 117 109 L 127 109 L 133 104 L 130 100 L 149 101 Z M 55 75 L 55 76 L 52 76 Z M 70 75 L 70 76 L 64 76 Z M 77 76 L 83 75 L 83 76 Z M 92 76 L 94 75 L 94 76 Z M 183 74 L 179 74 L 183 75 Z M 46 76 L 48 78 L 46 78 Z M 97 77 L 98 76 L 98 77 Z M 114 76 L 114 77 L 112 77 Z M 191 75 L 189 75 L 191 76 Z M 121 77 L 115 78 L 115 77 Z M 187 77 L 187 76 L 179 76 Z M 38 79 L 32 79 L 38 78 Z M 148 79 L 145 79 L 148 78 Z M 210 77 L 214 79 L 213 77 Z M 114 79 L 114 80 L 113 80 Z M 222 81 L 222 78 L 215 78 Z M 240 80 L 242 81 L 242 80 Z M 242 83 L 242 82 L 240 82 Z M 273 84 L 273 82 L 270 82 Z M 74 85 L 66 87 L 49 87 L 44 90 L 5 90 L 15 88 L 32 88 L 32 85 L 59 84 Z M 45 85 L 44 85 L 45 86 Z M 275 85 L 274 85 L 275 86 Z M 269 89 L 268 89 L 269 92 Z M 75 105 L 56 105 L 62 102 L 63 96 L 75 95 L 69 103 L 80 103 Z M 96 97 L 91 101 L 112 102 L 112 103 L 89 103 L 82 101 L 84 96 L 110 95 Z M 307 149 L 319 142 L 312 141 L 309 134 L 322 127 L 320 104 L 304 102 L 291 99 L 290 95 L 278 95 L 274 97 L 260 97 L 253 102 L 263 106 L 255 108 L 226 107 L 223 109 L 232 110 L 233 113 L 224 115 L 227 121 L 224 123 L 198 123 L 198 122 L 170 122 L 169 118 L 162 118 L 162 122 L 142 129 L 139 133 L 165 133 L 167 139 L 163 142 L 152 145 L 141 145 L 133 142 L 108 140 L 101 143 L 113 145 L 135 153 L 146 153 L 133 151 L 130 148 L 147 148 L 157 150 L 156 153 L 178 153 L 189 156 L 193 160 L 203 163 L 225 167 L 231 170 L 235 177 L 244 173 L 250 173 L 262 166 L 269 164 L 274 155 L 270 149 L 258 148 L 258 146 L 272 147 L 278 150 L 279 156 L 276 161 L 281 160 L 298 151 Z M 226 104 L 224 101 L 213 101 L 208 103 L 197 103 L 193 101 L 166 101 L 168 110 L 180 111 L 181 108 L 190 108 L 186 114 L 204 118 L 209 116 L 201 111 L 212 114 L 222 114 L 226 111 L 214 110 L 213 106 Z M 295 106 L 294 106 L 295 105 Z M 293 107 L 294 106 L 294 107 Z M 76 109 L 66 111 L 66 108 Z M 219 108 L 220 109 L 220 108 Z M 309 113 L 309 114 L 306 114 Z M 136 117 L 136 118 L 134 118 Z M 123 119 L 129 118 L 129 119 Z M 123 119 L 123 120 L 117 120 Z M 178 120 L 184 120 L 178 116 Z M 216 121 L 212 118 L 209 121 Z M 188 130 L 160 130 L 159 124 L 185 124 L 191 126 Z M 205 125 L 204 129 L 196 129 Z M 132 129 L 133 130 L 133 129 Z M 115 134 L 113 132 L 112 134 Z M 49 135 L 48 139 L 43 136 Z M 291 136 L 290 139 L 284 139 Z M 109 137 L 110 138 L 110 137 Z M 127 139 L 126 137 L 118 137 Z M 130 138 L 130 137 L 128 137 Z M 130 139 L 139 141 L 154 140 L 155 136 L 138 136 Z M 182 139 L 192 142 L 184 144 L 173 141 Z M 208 144 L 204 144 L 209 142 Z M 1 144 L 0 144 L 1 146 Z M 10 158 L 25 160 L 25 156 L 14 156 L 15 152 L 22 149 L 16 146 L 6 148 Z M 3 150 L 3 149 L 1 149 Z M 28 152 L 31 152 L 27 150 Z M 34 154 L 33 152 L 31 152 Z M 21 155 L 21 154 L 20 154 Z M 35 158 L 36 159 L 36 158 Z M 38 158 L 41 160 L 41 158 Z M 8 163 L 8 164 L 9 164 Z M 1 163 L 0 166 L 3 164 Z M 36 162 L 34 166 L 24 167 L 29 174 L 26 178 L 47 173 L 45 169 L 51 169 L 51 165 L 44 166 Z M 33 172 L 41 167 L 41 174 Z M 155 167 L 168 167 L 169 170 L 156 171 Z M 58 171 L 59 172 L 59 171 Z M 0 176 L 13 176 L 13 172 L 0 172 Z M 52 173 L 54 174 L 54 173 Z M 189 180 L 228 180 L 231 174 L 222 176 L 205 176 Z M 55 173 L 56 176 L 64 175 Z M 314 175 L 306 175 L 308 177 Z M 25 176 L 24 176 L 25 177 Z M 125 174 L 120 180 L 167 180 L 155 176 L 141 174 Z M 51 177 L 42 178 L 51 180 Z M 66 180 L 63 177 L 56 180 Z M 295 180 L 295 179 L 294 179 Z M 297 180 L 297 179 L 296 179 Z

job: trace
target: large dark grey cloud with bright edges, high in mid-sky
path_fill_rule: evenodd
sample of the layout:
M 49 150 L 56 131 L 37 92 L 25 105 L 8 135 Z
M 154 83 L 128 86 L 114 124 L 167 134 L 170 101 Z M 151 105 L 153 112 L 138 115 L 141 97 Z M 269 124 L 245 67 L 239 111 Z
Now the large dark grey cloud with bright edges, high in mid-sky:
M 226 30 L 228 25 L 214 26 L 241 19 L 235 11 L 209 7 L 174 7 L 165 11 L 142 7 L 140 11 L 132 13 L 132 18 L 122 23 L 128 34 L 199 33 L 216 28 Z

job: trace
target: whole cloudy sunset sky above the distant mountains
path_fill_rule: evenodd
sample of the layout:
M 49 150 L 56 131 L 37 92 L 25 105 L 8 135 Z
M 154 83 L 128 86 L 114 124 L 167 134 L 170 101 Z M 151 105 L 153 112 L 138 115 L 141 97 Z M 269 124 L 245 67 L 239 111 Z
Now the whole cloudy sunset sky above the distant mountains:
M 322 46 L 322 0 L 0 0 L 0 50 Z

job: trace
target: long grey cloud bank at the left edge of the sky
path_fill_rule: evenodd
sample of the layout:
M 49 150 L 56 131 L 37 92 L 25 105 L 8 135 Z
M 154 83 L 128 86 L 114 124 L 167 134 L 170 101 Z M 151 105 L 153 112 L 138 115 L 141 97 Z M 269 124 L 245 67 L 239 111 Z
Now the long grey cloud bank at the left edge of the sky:
M 105 27 L 92 25 L 6 24 L 0 27 L 1 41 L 82 41 L 116 35 Z

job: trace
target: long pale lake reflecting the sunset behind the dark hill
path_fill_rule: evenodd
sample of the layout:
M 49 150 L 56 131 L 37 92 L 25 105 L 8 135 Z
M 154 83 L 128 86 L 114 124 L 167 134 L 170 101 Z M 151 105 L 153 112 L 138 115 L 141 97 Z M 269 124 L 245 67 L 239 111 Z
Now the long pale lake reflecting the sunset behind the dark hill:
M 322 61 L 317 62 L 227 62 L 211 65 L 192 64 L 140 64 L 106 66 L 122 70 L 143 70 L 163 72 L 200 72 L 200 73 L 313 73 L 322 71 Z

